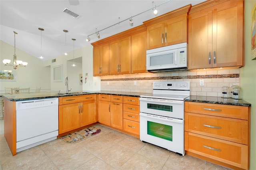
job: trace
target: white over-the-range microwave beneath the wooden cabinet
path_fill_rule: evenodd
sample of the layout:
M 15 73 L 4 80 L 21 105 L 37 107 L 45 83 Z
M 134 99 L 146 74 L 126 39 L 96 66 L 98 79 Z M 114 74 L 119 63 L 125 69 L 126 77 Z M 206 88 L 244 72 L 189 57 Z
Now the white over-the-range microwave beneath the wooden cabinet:
M 188 69 L 186 42 L 147 50 L 146 69 L 149 72 L 166 72 Z

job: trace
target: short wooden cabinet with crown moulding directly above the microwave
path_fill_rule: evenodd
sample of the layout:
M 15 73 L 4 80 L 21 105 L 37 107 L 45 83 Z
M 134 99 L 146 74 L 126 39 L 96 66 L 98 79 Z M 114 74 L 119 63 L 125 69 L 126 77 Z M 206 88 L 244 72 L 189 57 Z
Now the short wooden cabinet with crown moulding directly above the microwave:
M 191 4 L 143 22 L 147 26 L 147 50 L 188 40 L 188 11 Z

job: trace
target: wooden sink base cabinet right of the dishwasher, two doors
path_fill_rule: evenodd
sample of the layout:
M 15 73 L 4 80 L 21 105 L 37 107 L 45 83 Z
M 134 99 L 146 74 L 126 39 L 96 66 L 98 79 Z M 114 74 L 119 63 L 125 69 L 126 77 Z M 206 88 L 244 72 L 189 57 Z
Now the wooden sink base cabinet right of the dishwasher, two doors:
M 59 134 L 95 122 L 96 94 L 59 98 Z

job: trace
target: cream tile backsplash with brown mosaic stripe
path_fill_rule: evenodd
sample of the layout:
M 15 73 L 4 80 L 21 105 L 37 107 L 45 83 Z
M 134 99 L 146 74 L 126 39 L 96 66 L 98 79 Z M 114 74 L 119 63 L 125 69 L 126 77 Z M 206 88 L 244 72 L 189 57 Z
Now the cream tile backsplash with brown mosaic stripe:
M 101 90 L 152 93 L 153 82 L 190 81 L 190 95 L 220 97 L 222 86 L 240 85 L 239 76 L 240 68 L 101 76 Z

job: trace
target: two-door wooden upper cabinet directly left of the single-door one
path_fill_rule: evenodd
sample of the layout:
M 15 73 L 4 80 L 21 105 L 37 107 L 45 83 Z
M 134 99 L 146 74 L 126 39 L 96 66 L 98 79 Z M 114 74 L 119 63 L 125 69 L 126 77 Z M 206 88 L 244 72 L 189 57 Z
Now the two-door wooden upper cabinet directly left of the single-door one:
M 109 43 L 110 75 L 131 72 L 131 36 Z

